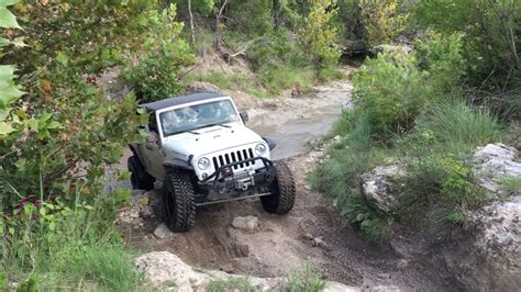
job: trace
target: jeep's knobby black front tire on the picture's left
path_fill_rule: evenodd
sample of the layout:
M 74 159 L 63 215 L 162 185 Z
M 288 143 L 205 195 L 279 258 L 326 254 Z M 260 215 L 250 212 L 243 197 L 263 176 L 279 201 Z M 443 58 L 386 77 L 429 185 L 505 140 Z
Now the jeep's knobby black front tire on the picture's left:
M 196 222 L 195 190 L 190 175 L 168 171 L 163 182 L 163 210 L 173 232 L 188 232 Z

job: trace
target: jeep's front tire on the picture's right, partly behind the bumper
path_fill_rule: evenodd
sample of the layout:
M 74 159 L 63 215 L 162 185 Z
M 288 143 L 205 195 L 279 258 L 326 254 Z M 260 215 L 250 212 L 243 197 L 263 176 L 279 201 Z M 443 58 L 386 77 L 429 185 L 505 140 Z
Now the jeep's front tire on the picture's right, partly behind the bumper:
M 273 214 L 286 214 L 295 204 L 295 180 L 289 167 L 282 162 L 275 162 L 277 177 L 271 183 L 270 195 L 260 196 L 264 210 Z

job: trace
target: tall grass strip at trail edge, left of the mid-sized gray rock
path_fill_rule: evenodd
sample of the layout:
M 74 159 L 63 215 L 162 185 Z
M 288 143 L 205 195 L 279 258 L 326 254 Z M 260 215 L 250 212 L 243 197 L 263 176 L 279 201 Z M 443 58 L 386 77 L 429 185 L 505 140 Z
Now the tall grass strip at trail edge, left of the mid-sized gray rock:
M 309 177 L 313 188 L 335 200 L 341 214 L 373 242 L 388 235 L 388 216 L 377 212 L 361 193 L 361 176 L 383 162 L 381 149 L 372 139 L 367 114 L 351 110 L 334 124 L 332 135 L 341 139 L 331 145 L 329 159 Z

